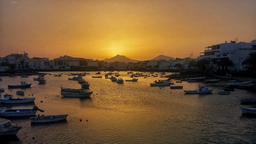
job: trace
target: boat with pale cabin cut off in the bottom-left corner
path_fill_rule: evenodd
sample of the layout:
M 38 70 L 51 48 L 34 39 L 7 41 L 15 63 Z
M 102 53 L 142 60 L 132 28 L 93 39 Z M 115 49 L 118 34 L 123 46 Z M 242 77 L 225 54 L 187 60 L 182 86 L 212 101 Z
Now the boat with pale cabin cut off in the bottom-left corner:
M 10 120 L 0 118 L 0 136 L 16 135 L 20 128 L 18 123 L 13 125 Z

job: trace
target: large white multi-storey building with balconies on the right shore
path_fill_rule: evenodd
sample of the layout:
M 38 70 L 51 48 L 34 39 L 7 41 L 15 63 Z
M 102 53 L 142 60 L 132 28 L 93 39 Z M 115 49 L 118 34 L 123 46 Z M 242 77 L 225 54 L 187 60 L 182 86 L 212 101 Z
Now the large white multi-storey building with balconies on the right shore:
M 229 70 L 239 71 L 245 69 L 242 63 L 251 52 L 256 52 L 256 40 L 249 43 L 230 41 L 230 43 L 225 42 L 205 47 L 198 60 L 204 59 L 210 64 L 214 64 L 214 61 L 229 59 L 233 62 L 233 66 L 229 67 Z M 220 67 L 214 66 L 214 69 L 220 69 Z

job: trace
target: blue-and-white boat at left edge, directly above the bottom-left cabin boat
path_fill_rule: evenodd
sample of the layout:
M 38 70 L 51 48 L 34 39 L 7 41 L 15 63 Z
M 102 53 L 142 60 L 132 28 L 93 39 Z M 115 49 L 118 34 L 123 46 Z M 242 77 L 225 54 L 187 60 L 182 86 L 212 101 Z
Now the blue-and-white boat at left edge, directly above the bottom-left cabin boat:
M 0 117 L 35 116 L 36 109 L 0 109 Z

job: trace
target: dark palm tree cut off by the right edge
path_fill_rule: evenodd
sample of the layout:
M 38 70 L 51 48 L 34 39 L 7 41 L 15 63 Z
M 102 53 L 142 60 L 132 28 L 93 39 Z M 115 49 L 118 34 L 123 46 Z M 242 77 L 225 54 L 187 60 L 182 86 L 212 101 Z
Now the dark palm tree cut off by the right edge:
M 249 71 L 256 72 L 256 52 L 251 52 L 242 63 Z

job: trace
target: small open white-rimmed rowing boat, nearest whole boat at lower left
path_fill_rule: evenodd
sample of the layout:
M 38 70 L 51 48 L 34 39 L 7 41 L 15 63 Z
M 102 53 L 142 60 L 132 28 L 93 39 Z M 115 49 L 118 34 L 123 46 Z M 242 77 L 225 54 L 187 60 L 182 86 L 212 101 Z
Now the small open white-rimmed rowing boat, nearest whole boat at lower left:
M 60 114 L 60 115 L 51 115 L 51 116 L 37 116 L 31 117 L 31 123 L 50 123 L 50 122 L 58 122 L 66 120 L 68 114 Z

